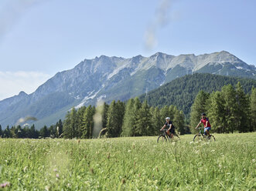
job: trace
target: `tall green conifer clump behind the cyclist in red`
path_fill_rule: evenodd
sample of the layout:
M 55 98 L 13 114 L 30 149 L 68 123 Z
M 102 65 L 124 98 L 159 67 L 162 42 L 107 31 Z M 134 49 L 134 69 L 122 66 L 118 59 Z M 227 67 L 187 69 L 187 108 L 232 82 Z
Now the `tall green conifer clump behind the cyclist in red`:
M 190 112 L 190 126 L 200 122 L 201 113 L 206 112 L 213 132 L 256 131 L 256 89 L 246 94 L 240 82 L 224 85 L 220 91 L 200 91 L 196 95 Z

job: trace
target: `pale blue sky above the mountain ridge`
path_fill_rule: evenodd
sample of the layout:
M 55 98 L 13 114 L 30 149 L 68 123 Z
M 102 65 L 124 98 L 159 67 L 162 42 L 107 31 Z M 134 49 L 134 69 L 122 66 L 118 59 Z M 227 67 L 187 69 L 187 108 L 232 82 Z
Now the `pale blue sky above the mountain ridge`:
M 225 50 L 256 65 L 254 0 L 1 0 L 0 100 L 95 56 Z

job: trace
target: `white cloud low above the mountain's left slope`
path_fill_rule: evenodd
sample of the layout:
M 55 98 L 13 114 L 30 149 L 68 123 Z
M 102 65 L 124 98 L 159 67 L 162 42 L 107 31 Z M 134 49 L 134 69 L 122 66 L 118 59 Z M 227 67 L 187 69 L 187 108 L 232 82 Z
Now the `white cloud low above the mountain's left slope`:
M 34 92 L 39 85 L 49 79 L 50 75 L 42 72 L 1 72 L 0 71 L 0 100 L 18 95 L 19 92 Z

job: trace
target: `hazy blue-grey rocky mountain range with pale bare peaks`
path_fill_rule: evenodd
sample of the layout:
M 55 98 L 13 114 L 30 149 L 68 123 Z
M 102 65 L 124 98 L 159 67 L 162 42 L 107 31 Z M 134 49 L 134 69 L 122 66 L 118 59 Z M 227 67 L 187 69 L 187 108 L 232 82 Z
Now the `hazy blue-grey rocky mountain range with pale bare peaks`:
M 0 124 L 14 125 L 24 116 L 39 119 L 36 127 L 63 119 L 73 106 L 95 104 L 99 99 L 122 101 L 142 95 L 173 79 L 193 72 L 256 79 L 256 68 L 229 52 L 204 55 L 137 55 L 131 59 L 101 55 L 84 59 L 73 69 L 58 72 L 36 92 L 20 92 L 0 102 Z

